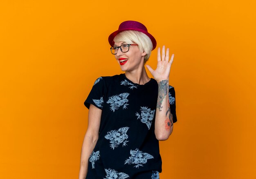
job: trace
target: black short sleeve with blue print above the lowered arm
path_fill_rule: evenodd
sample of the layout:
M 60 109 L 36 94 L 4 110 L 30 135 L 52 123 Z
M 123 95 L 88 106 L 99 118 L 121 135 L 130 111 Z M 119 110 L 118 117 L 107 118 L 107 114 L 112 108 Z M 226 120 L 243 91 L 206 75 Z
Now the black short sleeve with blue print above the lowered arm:
M 93 104 L 99 109 L 103 107 L 103 98 L 104 98 L 104 82 L 103 77 L 97 78 L 92 86 L 92 90 L 90 91 L 87 99 L 84 102 L 84 105 L 89 109 L 90 104 Z

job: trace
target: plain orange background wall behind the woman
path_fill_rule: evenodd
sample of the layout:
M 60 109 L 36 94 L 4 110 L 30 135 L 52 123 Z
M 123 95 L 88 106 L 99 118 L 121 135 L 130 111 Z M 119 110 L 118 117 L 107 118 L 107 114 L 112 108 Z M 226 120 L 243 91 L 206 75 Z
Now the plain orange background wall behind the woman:
M 2 0 L 0 178 L 78 178 L 83 102 L 97 77 L 122 73 L 108 35 L 137 20 L 175 54 L 178 122 L 160 142 L 160 178 L 255 179 L 255 9 L 255 0 Z

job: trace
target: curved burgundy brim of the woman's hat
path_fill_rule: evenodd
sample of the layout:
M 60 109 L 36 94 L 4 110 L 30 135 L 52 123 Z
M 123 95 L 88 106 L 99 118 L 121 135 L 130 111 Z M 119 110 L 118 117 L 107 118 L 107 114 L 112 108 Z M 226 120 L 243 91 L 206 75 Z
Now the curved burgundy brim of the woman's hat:
M 155 38 L 153 37 L 153 35 L 151 35 L 151 34 L 148 33 L 147 31 L 144 31 L 144 30 L 142 30 L 142 29 L 136 29 L 136 28 L 124 28 L 124 29 L 117 30 L 117 31 L 111 33 L 111 34 L 109 35 L 109 37 L 108 37 L 108 42 L 109 42 L 110 46 L 114 46 L 114 44 L 115 44 L 114 38 L 115 38 L 115 36 L 116 36 L 118 33 L 122 32 L 122 31 L 128 31 L 128 30 L 139 31 L 139 32 L 142 32 L 142 33 L 148 35 L 148 37 L 150 38 L 150 40 L 151 40 L 151 42 L 152 42 L 152 44 L 153 44 L 152 50 L 154 50 L 155 47 L 157 46 L 157 41 L 155 40 Z

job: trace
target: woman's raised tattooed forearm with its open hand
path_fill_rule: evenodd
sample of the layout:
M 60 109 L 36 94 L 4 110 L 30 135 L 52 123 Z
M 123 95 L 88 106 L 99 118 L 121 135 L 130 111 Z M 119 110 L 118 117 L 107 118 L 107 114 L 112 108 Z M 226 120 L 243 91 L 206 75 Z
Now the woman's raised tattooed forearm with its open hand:
M 173 57 L 174 54 L 169 61 L 169 49 L 166 49 L 165 54 L 165 46 L 163 46 L 162 56 L 160 54 L 160 48 L 158 48 L 157 51 L 157 69 L 153 70 L 149 65 L 146 65 L 158 84 L 157 109 L 155 115 L 155 136 L 158 140 L 167 140 L 173 132 L 173 115 L 171 114 L 168 96 L 169 75 Z

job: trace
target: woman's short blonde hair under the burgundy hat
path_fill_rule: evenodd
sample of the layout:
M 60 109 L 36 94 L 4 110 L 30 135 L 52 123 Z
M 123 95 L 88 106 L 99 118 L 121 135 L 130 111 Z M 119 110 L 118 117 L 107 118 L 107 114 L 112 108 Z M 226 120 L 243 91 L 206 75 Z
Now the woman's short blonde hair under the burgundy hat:
M 128 30 L 128 31 L 122 31 L 118 33 L 115 38 L 114 42 L 126 42 L 129 44 L 138 44 L 139 45 L 139 50 L 141 52 L 146 52 L 146 55 L 144 57 L 144 63 L 148 61 L 148 58 L 150 57 L 150 53 L 153 49 L 153 44 L 148 37 L 148 35 L 139 32 L 139 31 L 133 31 L 133 30 Z

